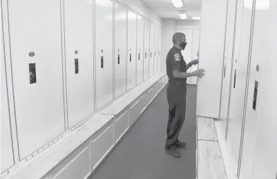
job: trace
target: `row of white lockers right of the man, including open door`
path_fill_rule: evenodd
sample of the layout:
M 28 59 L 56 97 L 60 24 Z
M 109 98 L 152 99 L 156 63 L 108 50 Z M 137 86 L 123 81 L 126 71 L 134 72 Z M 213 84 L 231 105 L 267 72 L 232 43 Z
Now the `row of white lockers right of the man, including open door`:
M 220 118 L 238 178 L 276 178 L 277 23 L 269 19 L 277 16 L 277 1 L 213 1 L 216 6 L 207 2 L 202 6 L 200 59 L 223 63 L 200 61 L 207 75 L 198 80 L 197 115 Z M 209 19 L 218 26 L 211 28 Z M 222 53 L 208 45 L 209 32 L 215 31 L 214 44 L 221 46 Z M 216 94 L 207 96 L 209 89 Z

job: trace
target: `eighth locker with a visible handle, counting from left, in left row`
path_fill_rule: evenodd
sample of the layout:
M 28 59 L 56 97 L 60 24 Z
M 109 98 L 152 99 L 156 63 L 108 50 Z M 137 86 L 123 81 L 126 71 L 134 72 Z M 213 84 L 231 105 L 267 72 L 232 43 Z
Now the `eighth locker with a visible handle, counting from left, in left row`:
M 149 59 L 149 77 L 154 73 L 154 56 L 155 56 L 155 27 L 150 23 L 150 59 Z

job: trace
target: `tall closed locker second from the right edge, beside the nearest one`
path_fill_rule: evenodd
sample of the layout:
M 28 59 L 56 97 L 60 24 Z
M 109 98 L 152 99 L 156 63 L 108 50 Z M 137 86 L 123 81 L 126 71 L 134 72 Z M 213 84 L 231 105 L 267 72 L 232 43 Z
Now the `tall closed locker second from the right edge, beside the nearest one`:
M 251 12 L 251 9 L 243 8 L 243 1 L 238 1 L 227 128 L 227 147 L 235 172 L 238 171 L 240 154 L 245 87 L 247 84 L 247 63 L 249 61 L 249 42 L 251 38 Z

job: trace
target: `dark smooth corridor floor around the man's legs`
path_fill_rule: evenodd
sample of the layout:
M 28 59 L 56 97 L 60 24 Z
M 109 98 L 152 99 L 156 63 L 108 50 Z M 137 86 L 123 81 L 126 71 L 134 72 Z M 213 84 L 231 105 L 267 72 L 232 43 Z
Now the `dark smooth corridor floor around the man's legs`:
M 195 96 L 195 85 L 187 85 L 187 114 L 179 137 L 187 149 L 180 149 L 181 158 L 172 158 L 164 151 L 169 107 L 164 87 L 89 179 L 195 179 Z

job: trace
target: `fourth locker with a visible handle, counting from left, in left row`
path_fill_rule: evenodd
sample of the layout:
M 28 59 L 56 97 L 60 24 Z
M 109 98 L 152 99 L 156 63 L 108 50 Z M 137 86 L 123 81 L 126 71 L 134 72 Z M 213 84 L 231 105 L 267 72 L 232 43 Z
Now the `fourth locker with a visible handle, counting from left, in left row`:
M 115 98 L 126 92 L 127 10 L 115 3 Z

